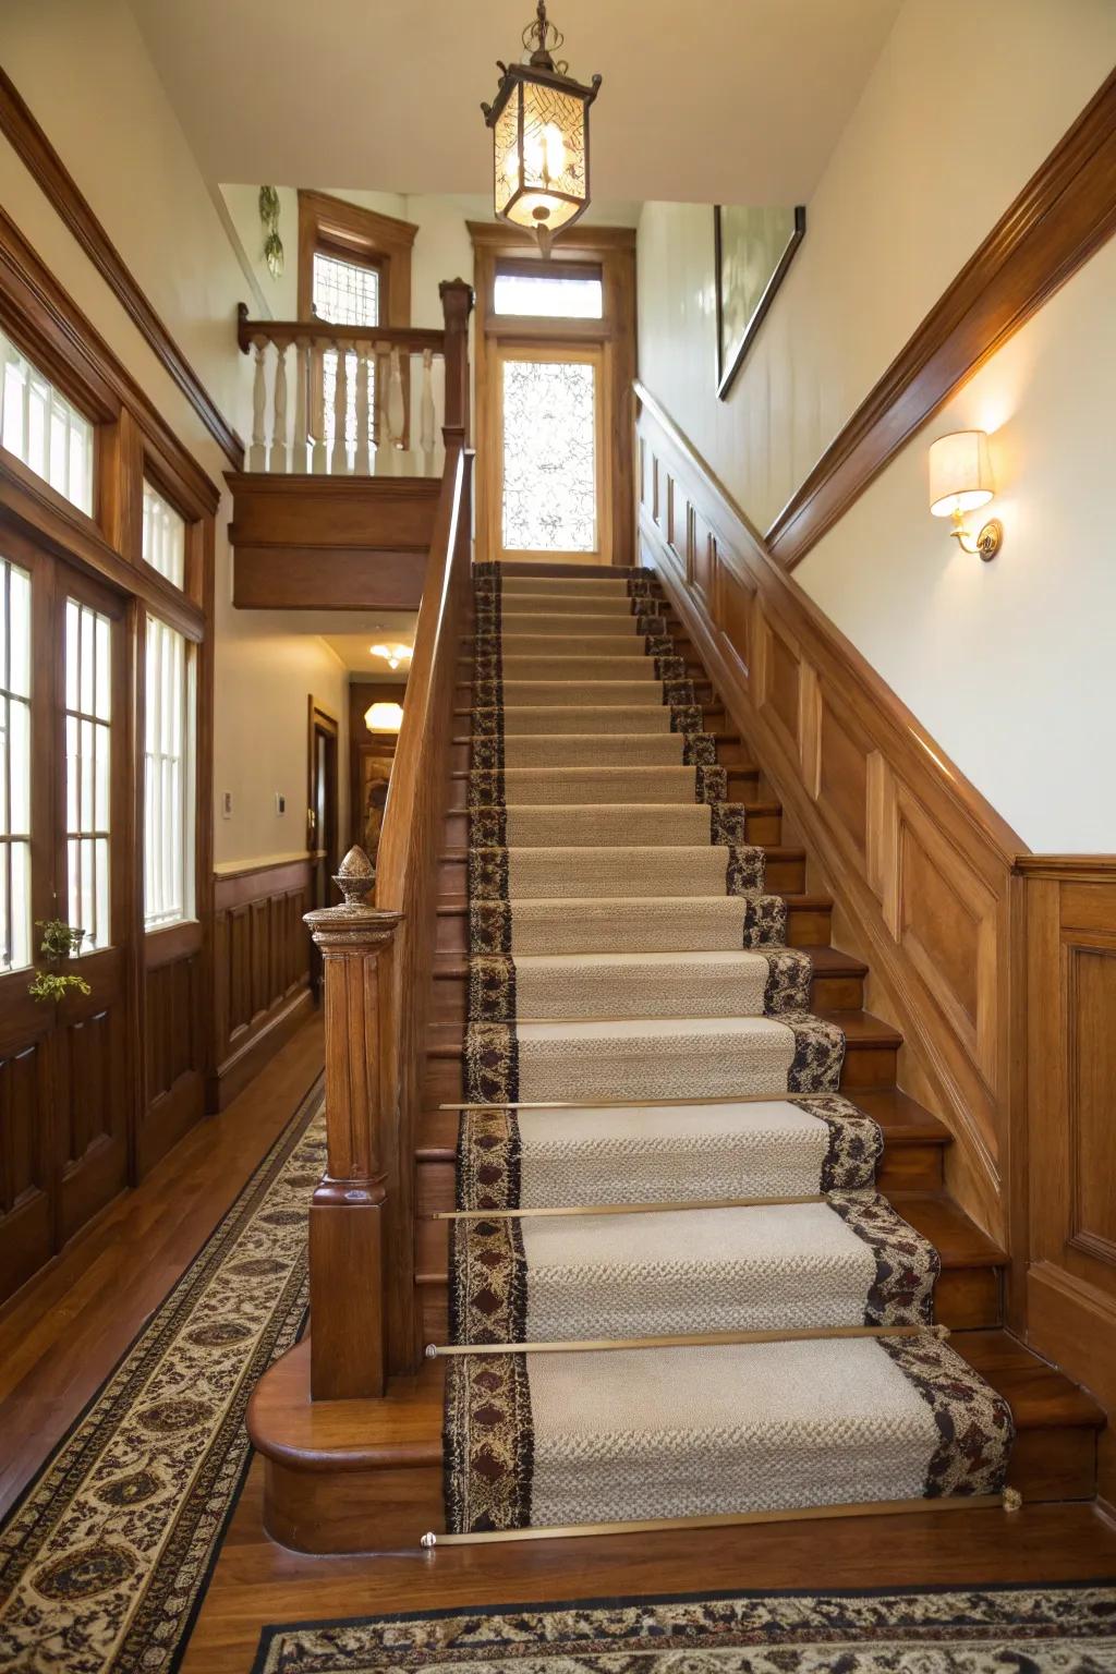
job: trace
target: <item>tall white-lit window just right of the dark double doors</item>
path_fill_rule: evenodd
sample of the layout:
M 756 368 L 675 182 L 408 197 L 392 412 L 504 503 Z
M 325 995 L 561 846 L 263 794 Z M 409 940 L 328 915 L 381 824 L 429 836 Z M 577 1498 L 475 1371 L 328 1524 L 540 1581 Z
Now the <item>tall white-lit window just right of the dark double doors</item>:
M 144 926 L 192 916 L 194 681 L 186 639 L 147 618 Z

